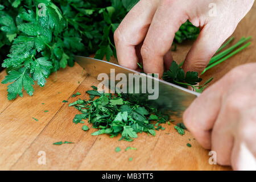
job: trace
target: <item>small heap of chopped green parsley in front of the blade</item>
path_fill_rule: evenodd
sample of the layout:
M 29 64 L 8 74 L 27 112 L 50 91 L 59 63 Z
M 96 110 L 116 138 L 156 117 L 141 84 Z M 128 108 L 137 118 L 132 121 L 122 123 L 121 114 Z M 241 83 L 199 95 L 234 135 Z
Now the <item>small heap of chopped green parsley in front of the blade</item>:
M 82 119 L 88 119 L 93 128 L 98 129 L 92 135 L 108 134 L 110 137 L 117 137 L 121 134 L 120 140 L 131 142 L 138 137 L 138 133 L 155 136 L 155 130 L 164 130 L 160 124 L 168 122 L 167 115 L 141 104 L 131 94 L 98 92 L 95 86 L 86 93 L 90 95 L 89 101 L 79 99 L 69 106 L 82 113 L 75 116 L 73 123 L 84 123 Z M 82 130 L 87 131 L 89 127 L 84 125 Z

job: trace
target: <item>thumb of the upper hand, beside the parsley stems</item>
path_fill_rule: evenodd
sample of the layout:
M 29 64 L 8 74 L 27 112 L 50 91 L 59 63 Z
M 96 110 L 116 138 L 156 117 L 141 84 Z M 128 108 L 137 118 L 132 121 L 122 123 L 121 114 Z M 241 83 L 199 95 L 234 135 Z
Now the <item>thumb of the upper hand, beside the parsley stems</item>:
M 233 32 L 234 28 L 220 25 L 220 22 L 206 24 L 188 52 L 183 64 L 184 71 L 203 72 L 212 56 Z

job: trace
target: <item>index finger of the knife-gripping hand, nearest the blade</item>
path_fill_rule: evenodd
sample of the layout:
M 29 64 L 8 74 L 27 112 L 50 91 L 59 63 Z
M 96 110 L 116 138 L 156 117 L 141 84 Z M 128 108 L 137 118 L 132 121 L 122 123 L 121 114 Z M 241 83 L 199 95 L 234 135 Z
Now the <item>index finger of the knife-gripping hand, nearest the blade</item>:
M 183 114 L 185 126 L 204 148 L 211 147 L 211 130 L 221 109 L 222 94 L 229 80 L 225 76 L 205 90 Z

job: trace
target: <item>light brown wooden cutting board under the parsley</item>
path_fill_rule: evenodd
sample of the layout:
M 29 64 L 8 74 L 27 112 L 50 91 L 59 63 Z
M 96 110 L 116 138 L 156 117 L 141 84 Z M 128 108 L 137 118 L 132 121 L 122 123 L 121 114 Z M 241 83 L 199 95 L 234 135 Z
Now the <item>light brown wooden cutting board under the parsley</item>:
M 256 7 L 242 20 L 234 33 L 237 42 L 242 36 L 256 38 Z M 223 27 L 225 28 L 225 27 Z M 204 80 L 214 76 L 219 80 L 237 65 L 256 62 L 255 39 L 253 44 L 228 61 L 204 74 Z M 174 59 L 184 60 L 192 43 L 179 45 Z M 0 73 L 0 80 L 5 77 Z M 213 83 L 212 82 L 212 83 Z M 181 136 L 174 125 L 156 131 L 156 136 L 139 134 L 134 142 L 118 141 L 119 137 L 90 135 L 96 129 L 82 131 L 82 124 L 72 122 L 79 111 L 62 101 L 73 102 L 76 92 L 81 99 L 97 80 L 82 74 L 82 68 L 61 69 L 47 80 L 44 88 L 35 86 L 32 97 L 24 93 L 15 101 L 6 99 L 6 85 L 0 85 L 0 169 L 5 170 L 229 170 L 230 167 L 210 165 L 209 151 L 204 150 L 189 132 Z M 45 110 L 49 110 L 45 113 Z M 32 118 L 37 118 L 36 122 Z M 91 126 L 90 126 L 91 127 Z M 190 140 L 190 141 L 189 141 Z M 74 142 L 55 146 L 59 141 Z M 192 147 L 187 147 L 191 143 Z M 119 146 L 121 152 L 115 152 Z M 137 150 L 125 151 L 126 147 Z M 46 156 L 46 164 L 38 160 Z M 129 158 L 133 160 L 129 161 Z M 42 161 L 42 160 L 40 160 Z

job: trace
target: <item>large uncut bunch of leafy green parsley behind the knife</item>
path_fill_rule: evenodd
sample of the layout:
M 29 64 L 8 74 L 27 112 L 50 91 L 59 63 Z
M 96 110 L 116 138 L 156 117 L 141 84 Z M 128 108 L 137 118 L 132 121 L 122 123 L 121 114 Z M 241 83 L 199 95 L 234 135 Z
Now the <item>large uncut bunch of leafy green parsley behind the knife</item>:
M 74 55 L 115 56 L 113 33 L 139 0 L 0 0 L 0 61 L 7 68 L 3 84 L 8 99 L 32 96 L 35 82 L 73 66 Z M 42 5 L 43 3 L 43 5 Z M 45 5 L 45 8 L 44 8 Z M 187 22 L 175 36 L 195 39 L 199 29 Z

